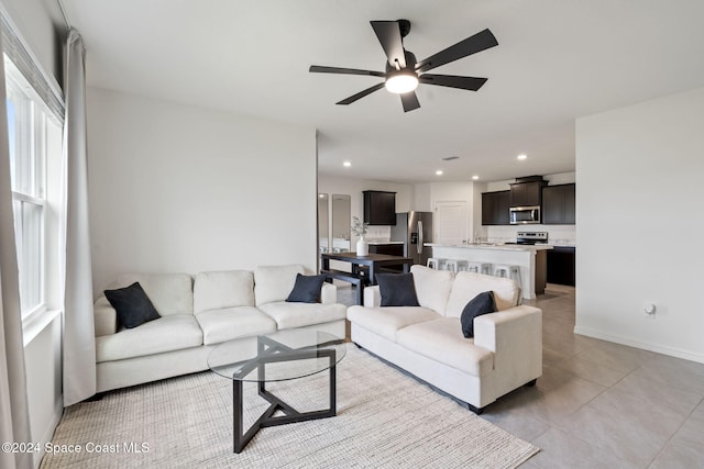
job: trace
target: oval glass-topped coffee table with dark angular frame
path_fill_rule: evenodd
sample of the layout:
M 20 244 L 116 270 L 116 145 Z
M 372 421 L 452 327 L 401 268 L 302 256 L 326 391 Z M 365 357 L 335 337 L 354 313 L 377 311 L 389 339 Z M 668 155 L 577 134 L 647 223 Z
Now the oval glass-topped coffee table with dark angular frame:
M 337 413 L 336 365 L 344 358 L 343 340 L 332 334 L 312 330 L 286 330 L 260 335 L 256 347 L 241 339 L 224 342 L 208 355 L 208 367 L 232 380 L 234 453 L 241 453 L 264 427 L 332 417 Z M 328 370 L 330 372 L 329 407 L 298 412 L 266 389 L 267 382 L 288 381 Z M 258 395 L 270 406 L 252 424 L 243 428 L 243 383 L 257 383 Z M 275 416 L 280 411 L 284 415 Z

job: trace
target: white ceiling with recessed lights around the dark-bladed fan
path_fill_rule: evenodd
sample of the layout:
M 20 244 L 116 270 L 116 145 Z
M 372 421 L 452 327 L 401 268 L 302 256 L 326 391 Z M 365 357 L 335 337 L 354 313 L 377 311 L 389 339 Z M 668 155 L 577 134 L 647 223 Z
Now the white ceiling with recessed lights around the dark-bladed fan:
M 701 0 L 62 3 L 84 36 L 89 86 L 316 127 L 321 174 L 420 182 L 573 171 L 575 118 L 704 86 Z M 383 70 L 370 21 L 399 18 L 418 59 L 491 29 L 497 47 L 433 70 L 486 85 L 421 85 L 409 113 L 385 90 L 336 105 L 380 79 L 308 67 Z

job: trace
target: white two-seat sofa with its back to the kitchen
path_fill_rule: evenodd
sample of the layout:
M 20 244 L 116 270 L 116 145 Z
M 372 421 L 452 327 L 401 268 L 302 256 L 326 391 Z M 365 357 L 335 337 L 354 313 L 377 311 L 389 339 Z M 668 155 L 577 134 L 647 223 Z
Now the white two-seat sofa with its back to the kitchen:
M 381 308 L 380 287 L 350 306 L 351 338 L 481 413 L 499 397 L 542 375 L 542 311 L 519 305 L 513 280 L 413 266 L 420 306 Z M 498 312 L 474 319 L 465 338 L 460 316 L 476 294 L 493 291 Z

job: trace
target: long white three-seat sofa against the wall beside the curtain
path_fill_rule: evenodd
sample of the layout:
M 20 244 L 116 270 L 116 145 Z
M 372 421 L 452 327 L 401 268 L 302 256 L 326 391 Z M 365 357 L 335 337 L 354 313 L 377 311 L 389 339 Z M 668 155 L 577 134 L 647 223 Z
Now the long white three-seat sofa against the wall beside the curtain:
M 345 335 L 345 310 L 337 288 L 323 283 L 319 303 L 286 302 L 304 267 L 265 266 L 254 271 L 133 273 L 107 289 L 138 281 L 161 317 L 118 331 L 117 312 L 105 295 L 95 303 L 97 391 L 208 369 L 218 344 L 237 339 L 242 358 L 256 349 L 256 336 L 304 327 Z

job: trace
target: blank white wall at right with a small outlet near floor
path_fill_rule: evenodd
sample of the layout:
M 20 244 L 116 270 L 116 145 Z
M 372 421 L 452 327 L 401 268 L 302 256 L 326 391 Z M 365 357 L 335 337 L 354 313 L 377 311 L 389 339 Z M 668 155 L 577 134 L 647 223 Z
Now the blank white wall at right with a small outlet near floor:
M 704 88 L 578 120 L 576 333 L 704 362 L 703 129 Z

